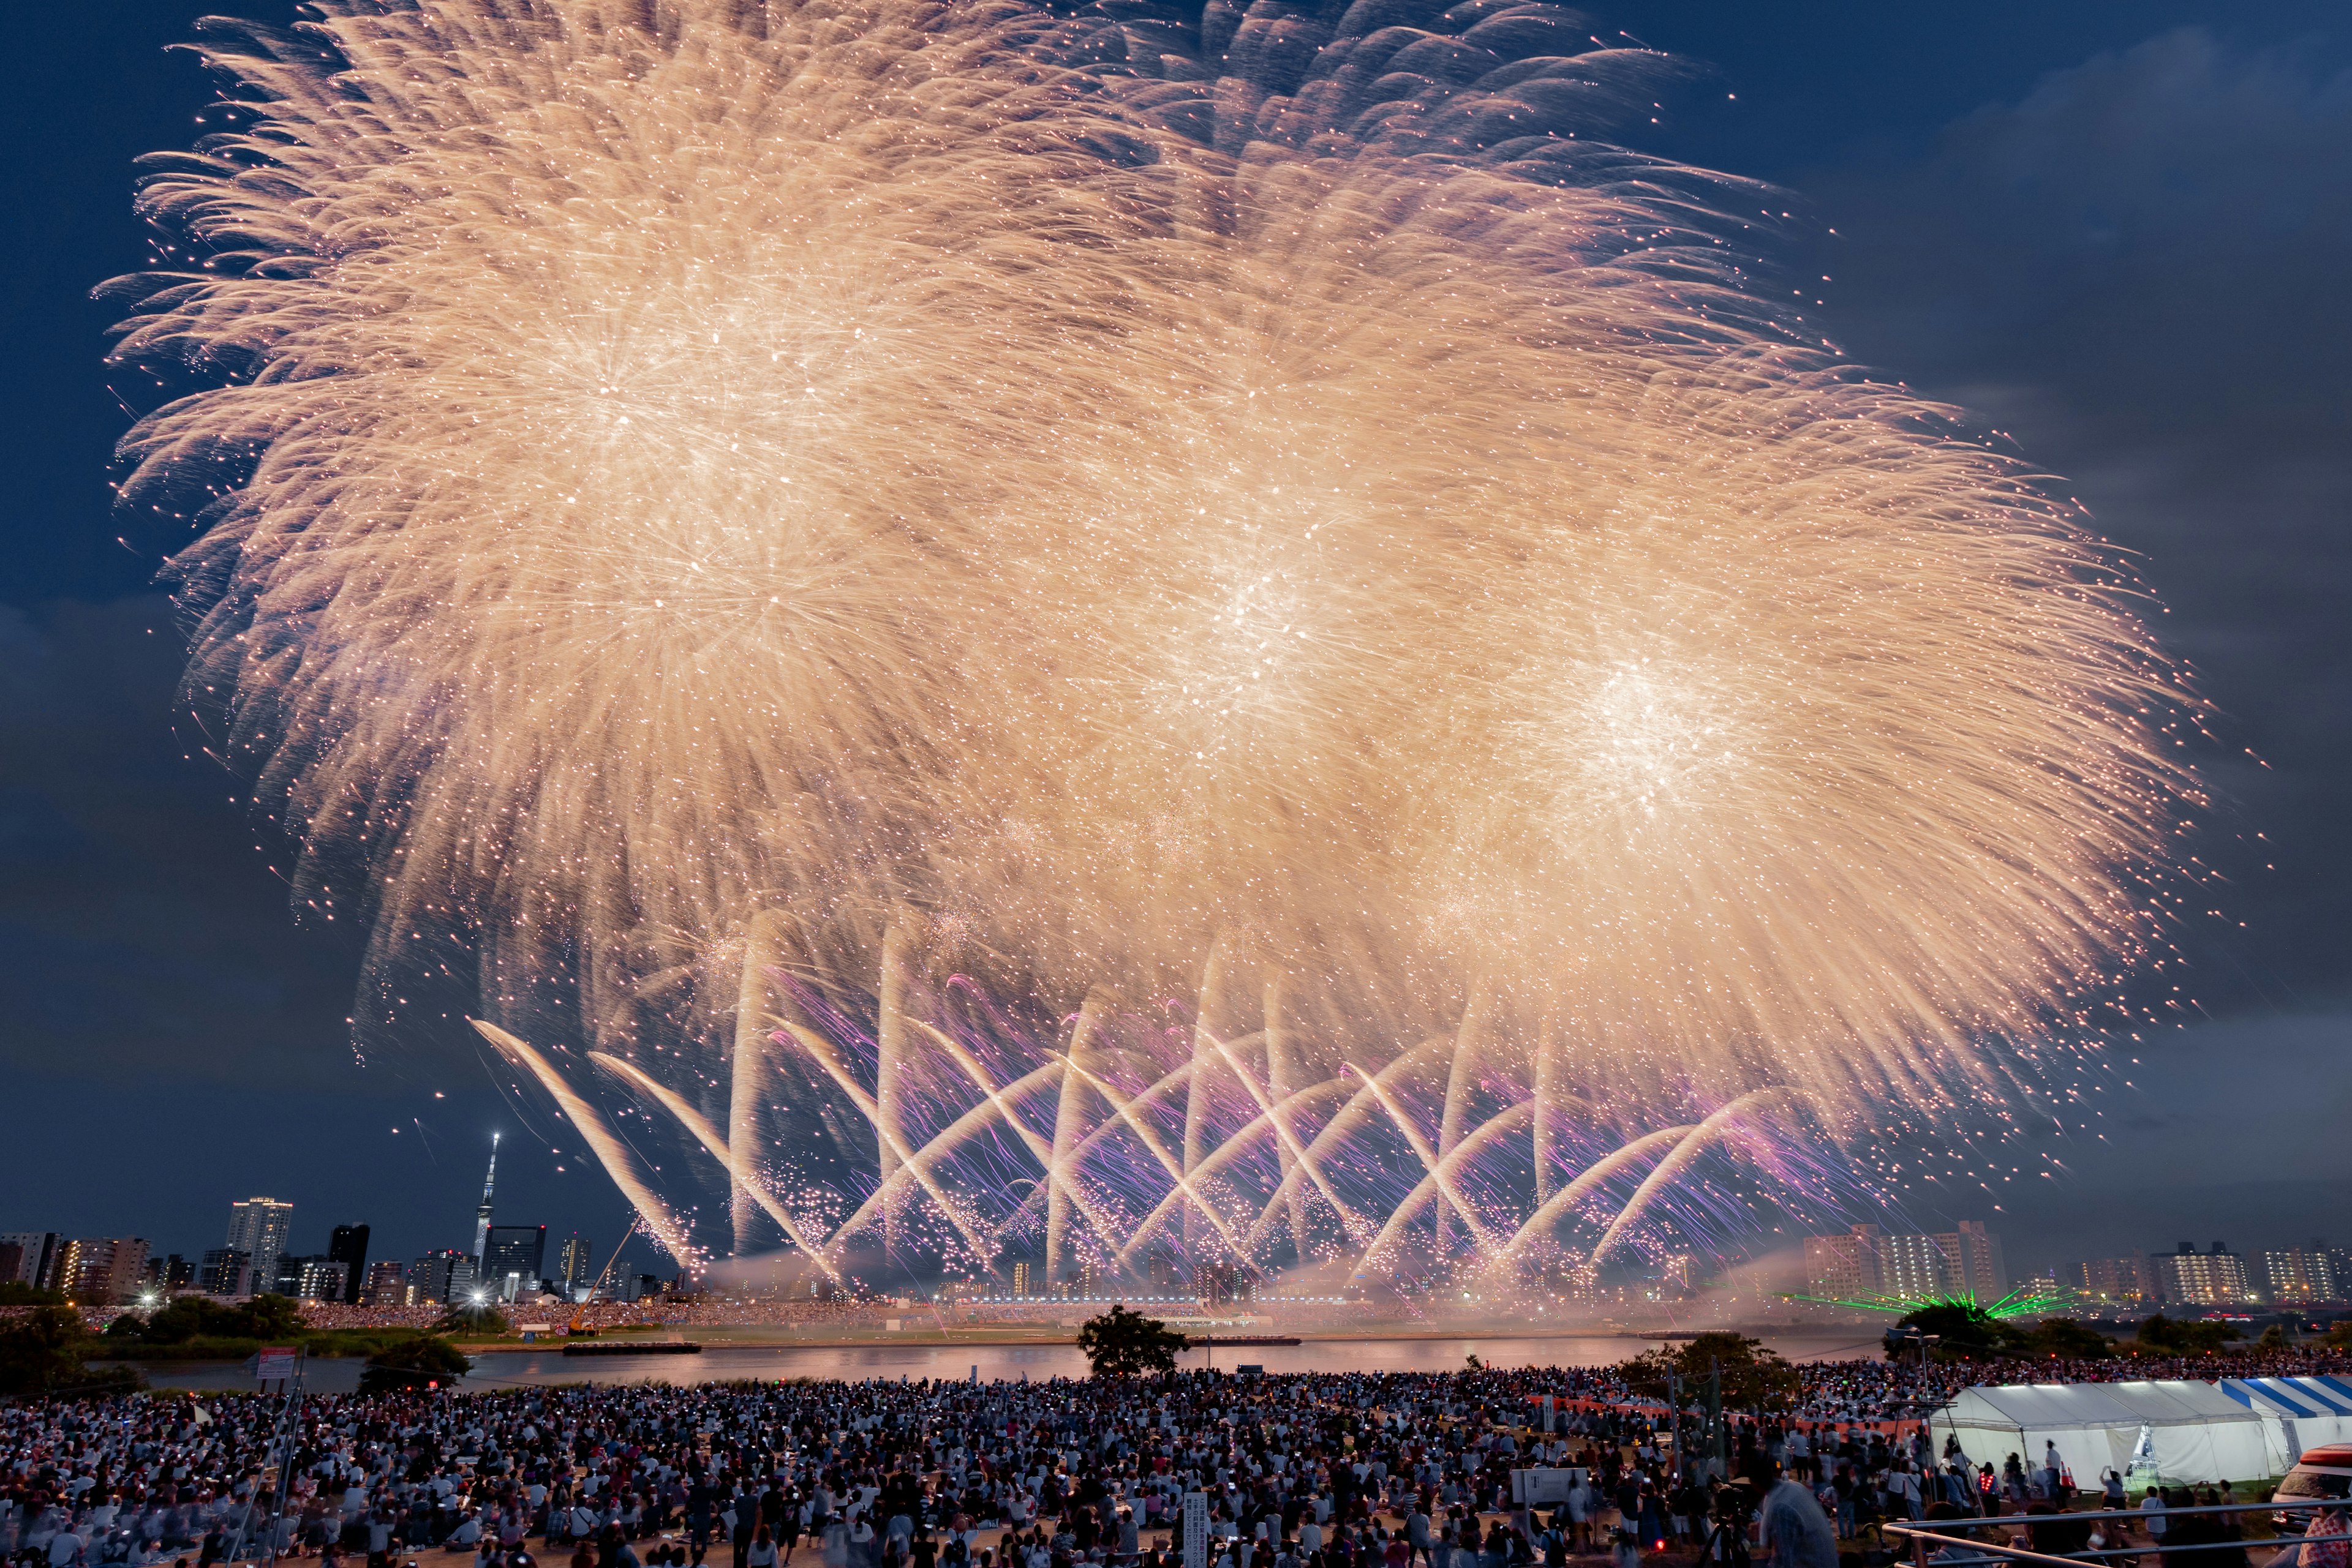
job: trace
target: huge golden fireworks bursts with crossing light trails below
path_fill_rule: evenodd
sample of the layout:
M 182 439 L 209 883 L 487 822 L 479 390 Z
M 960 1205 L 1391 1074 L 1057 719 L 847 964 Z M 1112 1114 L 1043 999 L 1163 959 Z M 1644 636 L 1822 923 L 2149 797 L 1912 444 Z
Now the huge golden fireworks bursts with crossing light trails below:
M 207 59 L 120 348 L 216 383 L 127 442 L 191 691 L 362 1027 L 463 950 L 668 1244 L 590 1095 L 739 1248 L 1606 1251 L 2065 1119 L 2044 1046 L 2133 1023 L 2194 795 L 2136 590 L 1764 303 L 1757 193 L 1597 136 L 1656 56 L 336 0 Z

